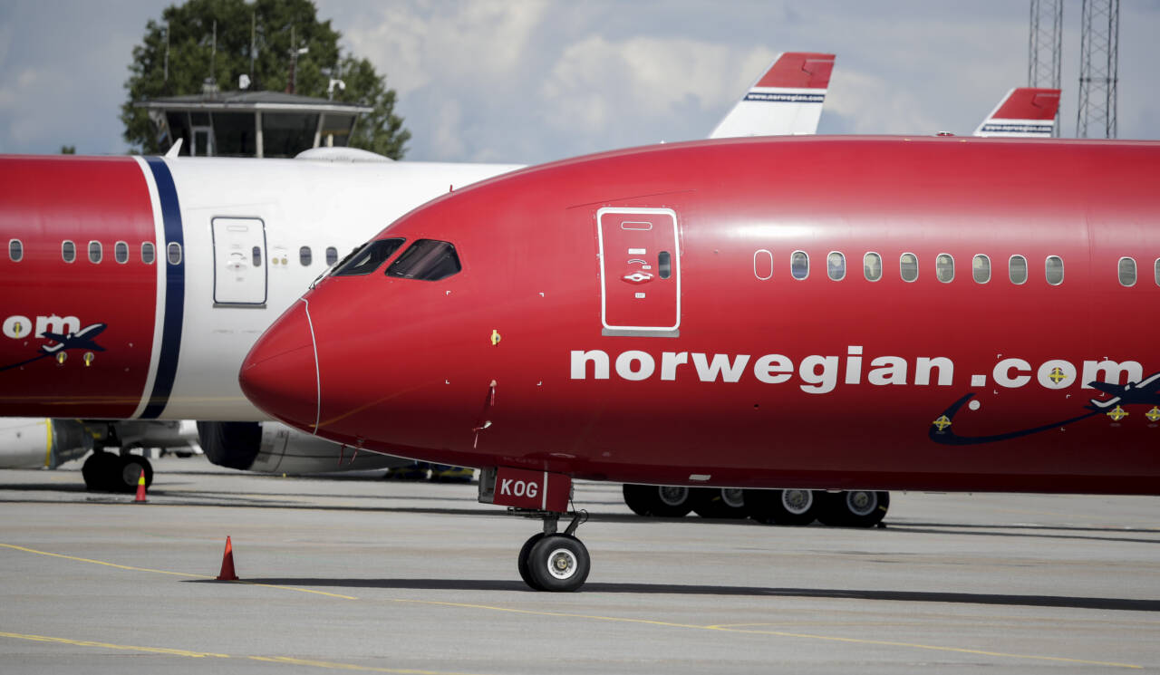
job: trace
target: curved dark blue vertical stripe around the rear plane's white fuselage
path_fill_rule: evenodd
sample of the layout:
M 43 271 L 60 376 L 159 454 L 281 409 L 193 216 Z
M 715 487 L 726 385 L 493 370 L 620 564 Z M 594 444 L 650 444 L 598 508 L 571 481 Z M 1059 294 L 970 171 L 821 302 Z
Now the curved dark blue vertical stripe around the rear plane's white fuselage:
M 181 206 L 177 188 L 165 160 L 159 157 L 145 158 L 157 183 L 158 201 L 161 203 L 161 219 L 165 223 L 165 245 L 158 246 L 158 264 L 165 266 L 165 324 L 161 329 L 161 349 L 157 364 L 157 377 L 148 405 L 140 414 L 143 419 L 157 419 L 169 402 L 169 392 L 177 375 L 177 356 L 181 351 L 181 325 L 186 311 L 186 242 L 181 230 Z M 158 242 L 160 244 L 160 242 Z M 176 264 L 169 262 L 169 246 L 181 248 Z

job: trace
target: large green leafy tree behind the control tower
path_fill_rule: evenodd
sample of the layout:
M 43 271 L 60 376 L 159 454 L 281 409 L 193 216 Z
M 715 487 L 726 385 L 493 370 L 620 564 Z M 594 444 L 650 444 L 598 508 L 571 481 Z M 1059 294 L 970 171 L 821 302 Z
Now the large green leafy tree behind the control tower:
M 350 145 L 401 159 L 411 132 L 403 128 L 403 118 L 394 114 L 394 89 L 386 87 L 386 78 L 376 73 L 370 61 L 341 53 L 340 36 L 329 20 L 318 20 L 311 0 L 255 0 L 252 3 L 242 0 L 187 0 L 182 5 L 172 5 L 161 13 L 161 22 L 150 20 L 145 24 L 145 38 L 133 48 L 130 77 L 125 81 L 129 95 L 121 106 L 124 138 L 133 151 L 146 154 L 167 150 L 158 144 L 148 114 L 142 108 L 133 108 L 133 103 L 201 94 L 210 78 L 226 90 L 237 87 L 239 75 L 253 73 L 251 90 L 289 90 L 293 63 L 291 55 L 306 48 L 306 53 L 297 57 L 297 73 L 292 77 L 295 93 L 327 97 L 327 73 L 340 65 L 346 88 L 335 88 L 334 100 L 374 108 L 358 118 Z

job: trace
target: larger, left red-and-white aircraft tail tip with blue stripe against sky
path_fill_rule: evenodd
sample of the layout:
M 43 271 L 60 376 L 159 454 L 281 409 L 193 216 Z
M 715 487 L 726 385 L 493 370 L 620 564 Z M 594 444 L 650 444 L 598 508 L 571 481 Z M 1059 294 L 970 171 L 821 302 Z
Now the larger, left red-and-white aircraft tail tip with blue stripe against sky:
M 833 68 L 832 53 L 777 55 L 709 138 L 817 132 Z

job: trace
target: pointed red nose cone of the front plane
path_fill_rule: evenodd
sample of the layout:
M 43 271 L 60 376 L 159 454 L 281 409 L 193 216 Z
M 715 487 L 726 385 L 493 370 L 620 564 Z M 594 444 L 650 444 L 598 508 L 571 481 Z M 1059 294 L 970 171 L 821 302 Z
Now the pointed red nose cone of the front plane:
M 261 411 L 314 430 L 318 424 L 318 361 L 305 303 L 270 326 L 241 363 L 241 392 Z

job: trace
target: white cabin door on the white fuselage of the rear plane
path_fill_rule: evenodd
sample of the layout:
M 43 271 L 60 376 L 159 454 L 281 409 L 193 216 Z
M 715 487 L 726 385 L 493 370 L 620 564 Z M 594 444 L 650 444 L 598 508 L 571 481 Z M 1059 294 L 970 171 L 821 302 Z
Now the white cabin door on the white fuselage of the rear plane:
M 266 304 L 266 224 L 213 218 L 213 306 Z

